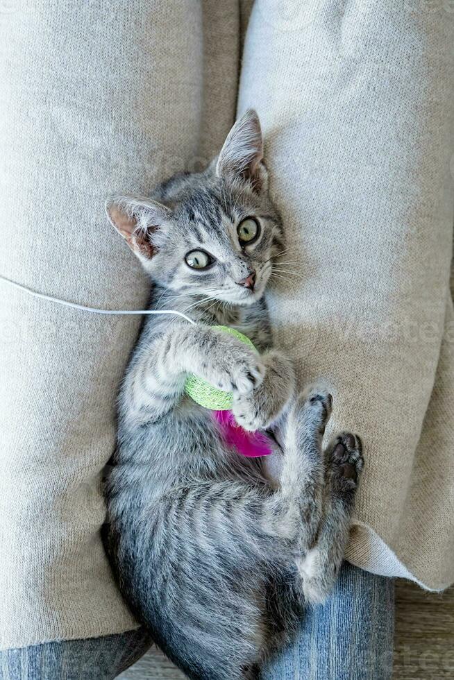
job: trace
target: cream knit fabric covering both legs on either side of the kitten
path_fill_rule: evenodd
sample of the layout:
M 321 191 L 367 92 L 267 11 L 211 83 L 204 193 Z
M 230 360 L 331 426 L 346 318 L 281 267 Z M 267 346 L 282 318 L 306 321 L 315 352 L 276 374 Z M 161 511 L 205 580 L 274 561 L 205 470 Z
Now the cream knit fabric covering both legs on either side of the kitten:
M 240 18 L 236 0 L 3 3 L 3 275 L 144 305 L 104 198 L 217 151 Z M 276 342 L 364 439 L 348 558 L 428 588 L 454 578 L 453 22 L 442 0 L 256 0 L 239 87 L 301 263 L 269 296 Z M 0 647 L 124 631 L 99 479 L 139 319 L 0 294 Z

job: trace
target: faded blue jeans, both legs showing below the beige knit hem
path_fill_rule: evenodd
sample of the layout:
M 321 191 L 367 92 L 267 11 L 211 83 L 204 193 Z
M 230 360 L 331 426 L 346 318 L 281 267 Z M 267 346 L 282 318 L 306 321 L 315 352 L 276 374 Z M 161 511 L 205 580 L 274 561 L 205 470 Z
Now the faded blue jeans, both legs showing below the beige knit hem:
M 346 563 L 333 595 L 306 611 L 299 636 L 262 679 L 389 680 L 393 636 L 394 581 Z M 8 649 L 0 652 L 0 680 L 111 680 L 150 645 L 139 629 Z

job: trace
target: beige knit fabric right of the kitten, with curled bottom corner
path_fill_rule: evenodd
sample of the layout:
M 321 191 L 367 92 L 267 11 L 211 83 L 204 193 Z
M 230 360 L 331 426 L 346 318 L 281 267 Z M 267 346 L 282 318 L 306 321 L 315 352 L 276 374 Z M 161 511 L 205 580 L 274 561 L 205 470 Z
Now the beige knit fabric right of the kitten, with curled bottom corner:
M 453 62 L 452 3 L 256 0 L 239 92 L 301 263 L 269 296 L 276 342 L 364 440 L 348 559 L 434 589 L 454 579 Z

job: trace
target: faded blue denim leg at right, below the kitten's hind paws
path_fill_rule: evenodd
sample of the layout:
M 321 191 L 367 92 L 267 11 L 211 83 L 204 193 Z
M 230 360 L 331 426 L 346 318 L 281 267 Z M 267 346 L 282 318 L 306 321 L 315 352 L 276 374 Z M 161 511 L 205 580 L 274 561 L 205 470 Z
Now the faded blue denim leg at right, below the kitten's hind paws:
M 262 680 L 390 680 L 394 581 L 344 563 L 333 595 L 305 612 Z

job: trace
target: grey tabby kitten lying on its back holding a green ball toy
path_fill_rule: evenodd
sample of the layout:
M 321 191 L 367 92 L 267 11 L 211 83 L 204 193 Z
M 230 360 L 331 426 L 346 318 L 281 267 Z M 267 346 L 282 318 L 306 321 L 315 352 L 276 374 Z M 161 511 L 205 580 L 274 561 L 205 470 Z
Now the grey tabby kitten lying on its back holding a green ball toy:
M 204 172 L 107 211 L 153 280 L 151 308 L 198 323 L 146 318 L 119 396 L 106 550 L 138 620 L 188 677 L 255 678 L 304 604 L 333 587 L 362 468 L 358 436 L 322 451 L 331 396 L 296 395 L 291 362 L 271 348 L 263 294 L 283 229 L 257 114 L 237 121 Z M 185 396 L 190 372 L 232 391 L 238 423 L 268 430 L 275 452 L 230 450 Z

